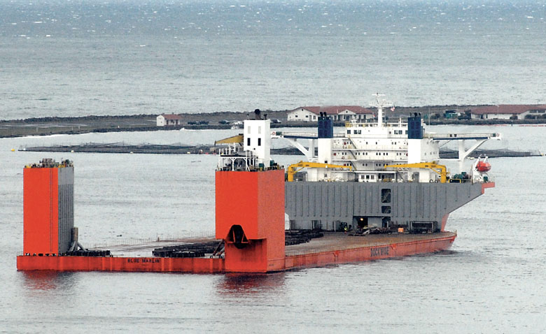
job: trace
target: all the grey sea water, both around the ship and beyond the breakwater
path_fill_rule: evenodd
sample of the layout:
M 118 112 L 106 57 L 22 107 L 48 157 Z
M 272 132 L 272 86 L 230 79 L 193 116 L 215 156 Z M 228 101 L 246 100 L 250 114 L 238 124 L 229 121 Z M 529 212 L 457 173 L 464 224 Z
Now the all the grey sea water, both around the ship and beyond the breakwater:
M 0 118 L 366 105 L 377 91 L 408 106 L 545 103 L 545 15 L 543 1 L 0 0 Z M 431 130 L 546 152 L 546 127 Z M 44 154 L 12 148 L 234 133 L 1 139 L 0 333 L 546 331 L 544 157 L 491 159 L 496 188 L 450 216 L 458 238 L 441 254 L 260 276 L 16 271 L 22 167 Z M 216 157 L 46 156 L 75 162 L 85 245 L 213 232 Z

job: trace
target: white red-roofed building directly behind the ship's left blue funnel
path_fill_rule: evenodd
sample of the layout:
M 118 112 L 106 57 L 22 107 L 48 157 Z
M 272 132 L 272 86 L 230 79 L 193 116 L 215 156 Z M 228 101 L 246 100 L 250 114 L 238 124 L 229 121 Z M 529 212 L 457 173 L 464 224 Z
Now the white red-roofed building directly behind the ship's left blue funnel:
M 372 110 L 360 106 L 298 107 L 288 111 L 288 122 L 317 122 L 320 112 L 325 112 L 333 121 L 365 121 L 372 119 Z

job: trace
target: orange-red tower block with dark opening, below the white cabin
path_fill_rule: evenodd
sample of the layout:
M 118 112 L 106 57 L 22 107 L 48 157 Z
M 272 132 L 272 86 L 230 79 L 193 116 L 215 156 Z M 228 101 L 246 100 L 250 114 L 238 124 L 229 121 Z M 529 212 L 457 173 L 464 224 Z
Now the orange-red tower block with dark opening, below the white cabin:
M 216 172 L 216 238 L 226 272 L 284 269 L 283 169 Z

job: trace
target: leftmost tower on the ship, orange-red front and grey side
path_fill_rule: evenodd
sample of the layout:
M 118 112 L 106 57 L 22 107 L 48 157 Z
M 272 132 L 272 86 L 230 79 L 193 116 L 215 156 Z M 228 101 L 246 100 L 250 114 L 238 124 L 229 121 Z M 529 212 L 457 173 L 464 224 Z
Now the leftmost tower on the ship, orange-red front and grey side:
M 23 252 L 58 255 L 69 250 L 74 226 L 71 161 L 42 159 L 23 170 Z

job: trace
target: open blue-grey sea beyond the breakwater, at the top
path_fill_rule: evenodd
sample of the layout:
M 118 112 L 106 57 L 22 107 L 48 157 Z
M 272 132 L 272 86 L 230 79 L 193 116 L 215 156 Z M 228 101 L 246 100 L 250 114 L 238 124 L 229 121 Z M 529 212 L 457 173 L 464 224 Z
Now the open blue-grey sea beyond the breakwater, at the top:
M 0 119 L 546 103 L 545 6 L 0 0 Z

